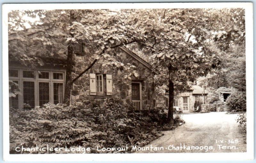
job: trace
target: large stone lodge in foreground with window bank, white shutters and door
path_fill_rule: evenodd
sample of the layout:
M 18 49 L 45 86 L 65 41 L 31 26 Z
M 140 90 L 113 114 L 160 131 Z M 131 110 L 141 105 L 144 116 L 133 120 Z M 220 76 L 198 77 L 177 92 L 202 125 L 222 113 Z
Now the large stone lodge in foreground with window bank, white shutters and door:
M 25 37 L 33 39 L 42 35 L 40 31 L 28 31 Z M 15 82 L 21 92 L 16 97 L 10 97 L 9 107 L 22 108 L 24 103 L 31 107 L 43 106 L 45 103 L 63 103 L 67 45 L 65 40 L 60 39 L 56 42 L 47 47 L 52 49 L 52 56 L 38 56 L 44 60 L 43 66 L 31 69 L 18 61 L 9 61 L 9 81 Z M 19 39 L 15 39 L 15 35 L 9 35 L 9 44 L 15 44 L 24 53 L 29 52 L 29 55 L 35 56 L 32 50 L 39 46 L 36 40 L 31 46 L 24 46 Z M 148 105 L 155 106 L 151 66 L 125 47 L 119 47 L 115 53 L 117 61 L 136 66 L 134 70 L 137 71 L 138 77 L 131 76 L 131 79 L 125 79 L 123 71 L 103 67 L 102 62 L 98 60 L 88 72 L 74 82 L 71 103 L 89 100 L 91 103 L 100 104 L 106 98 L 120 97 L 123 103 L 132 102 L 136 110 L 145 110 Z M 76 45 L 73 77 L 90 65 L 91 55 L 83 51 L 83 44 Z

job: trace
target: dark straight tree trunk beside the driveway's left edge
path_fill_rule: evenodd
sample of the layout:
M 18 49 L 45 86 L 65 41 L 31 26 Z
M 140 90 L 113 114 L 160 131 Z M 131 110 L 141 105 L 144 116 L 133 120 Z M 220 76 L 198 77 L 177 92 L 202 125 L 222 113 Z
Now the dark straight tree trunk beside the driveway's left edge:
M 173 122 L 173 98 L 174 98 L 174 85 L 172 82 L 172 67 L 169 66 L 169 107 L 168 107 L 168 121 Z

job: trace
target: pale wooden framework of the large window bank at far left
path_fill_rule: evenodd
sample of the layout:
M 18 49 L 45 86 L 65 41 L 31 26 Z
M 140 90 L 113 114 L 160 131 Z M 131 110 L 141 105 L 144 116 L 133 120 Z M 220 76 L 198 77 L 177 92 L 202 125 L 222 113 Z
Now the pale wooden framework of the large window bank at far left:
M 35 84 L 35 106 L 39 106 L 39 82 L 48 82 L 49 83 L 49 102 L 53 103 L 53 83 L 62 83 L 63 84 L 63 100 L 64 100 L 64 93 L 65 93 L 65 76 L 66 76 L 66 70 L 60 69 L 59 71 L 52 71 L 50 68 L 42 68 L 42 69 L 36 69 L 36 70 L 28 70 L 27 68 L 24 67 L 17 67 L 17 68 L 12 68 L 10 67 L 9 69 L 12 70 L 18 70 L 18 76 L 19 77 L 10 77 L 9 76 L 9 81 L 18 81 L 19 82 L 19 89 L 22 95 L 17 95 L 19 99 L 18 103 L 18 108 L 21 109 L 23 108 L 23 81 L 33 81 Z M 35 73 L 34 78 L 24 78 L 23 77 L 23 71 L 33 71 Z M 41 79 L 39 78 L 39 73 L 40 72 L 48 72 L 49 73 L 49 79 Z M 53 73 L 61 73 L 63 75 L 63 79 L 53 79 Z

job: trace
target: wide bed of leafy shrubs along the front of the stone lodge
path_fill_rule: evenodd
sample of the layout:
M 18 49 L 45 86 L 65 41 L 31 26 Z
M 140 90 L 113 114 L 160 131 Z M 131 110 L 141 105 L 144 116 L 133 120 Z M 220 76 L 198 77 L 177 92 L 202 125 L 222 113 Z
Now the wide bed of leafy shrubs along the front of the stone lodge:
M 84 102 L 70 106 L 45 104 L 31 110 L 10 108 L 10 153 L 20 153 L 15 152 L 15 148 L 21 145 L 30 148 L 36 145 L 53 148 L 144 146 L 163 135 L 159 131 L 166 120 L 167 114 L 161 110 L 135 112 L 130 105 L 123 106 L 114 98 L 98 107 Z

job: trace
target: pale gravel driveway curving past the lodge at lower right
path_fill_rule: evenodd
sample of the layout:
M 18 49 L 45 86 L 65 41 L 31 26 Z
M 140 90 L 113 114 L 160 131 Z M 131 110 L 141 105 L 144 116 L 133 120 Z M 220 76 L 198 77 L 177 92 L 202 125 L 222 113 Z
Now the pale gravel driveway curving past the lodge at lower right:
M 133 152 L 246 152 L 246 140 L 235 120 L 237 114 L 210 112 L 181 117 L 185 124 L 173 131 L 163 131 L 164 136 L 143 148 L 134 148 Z

